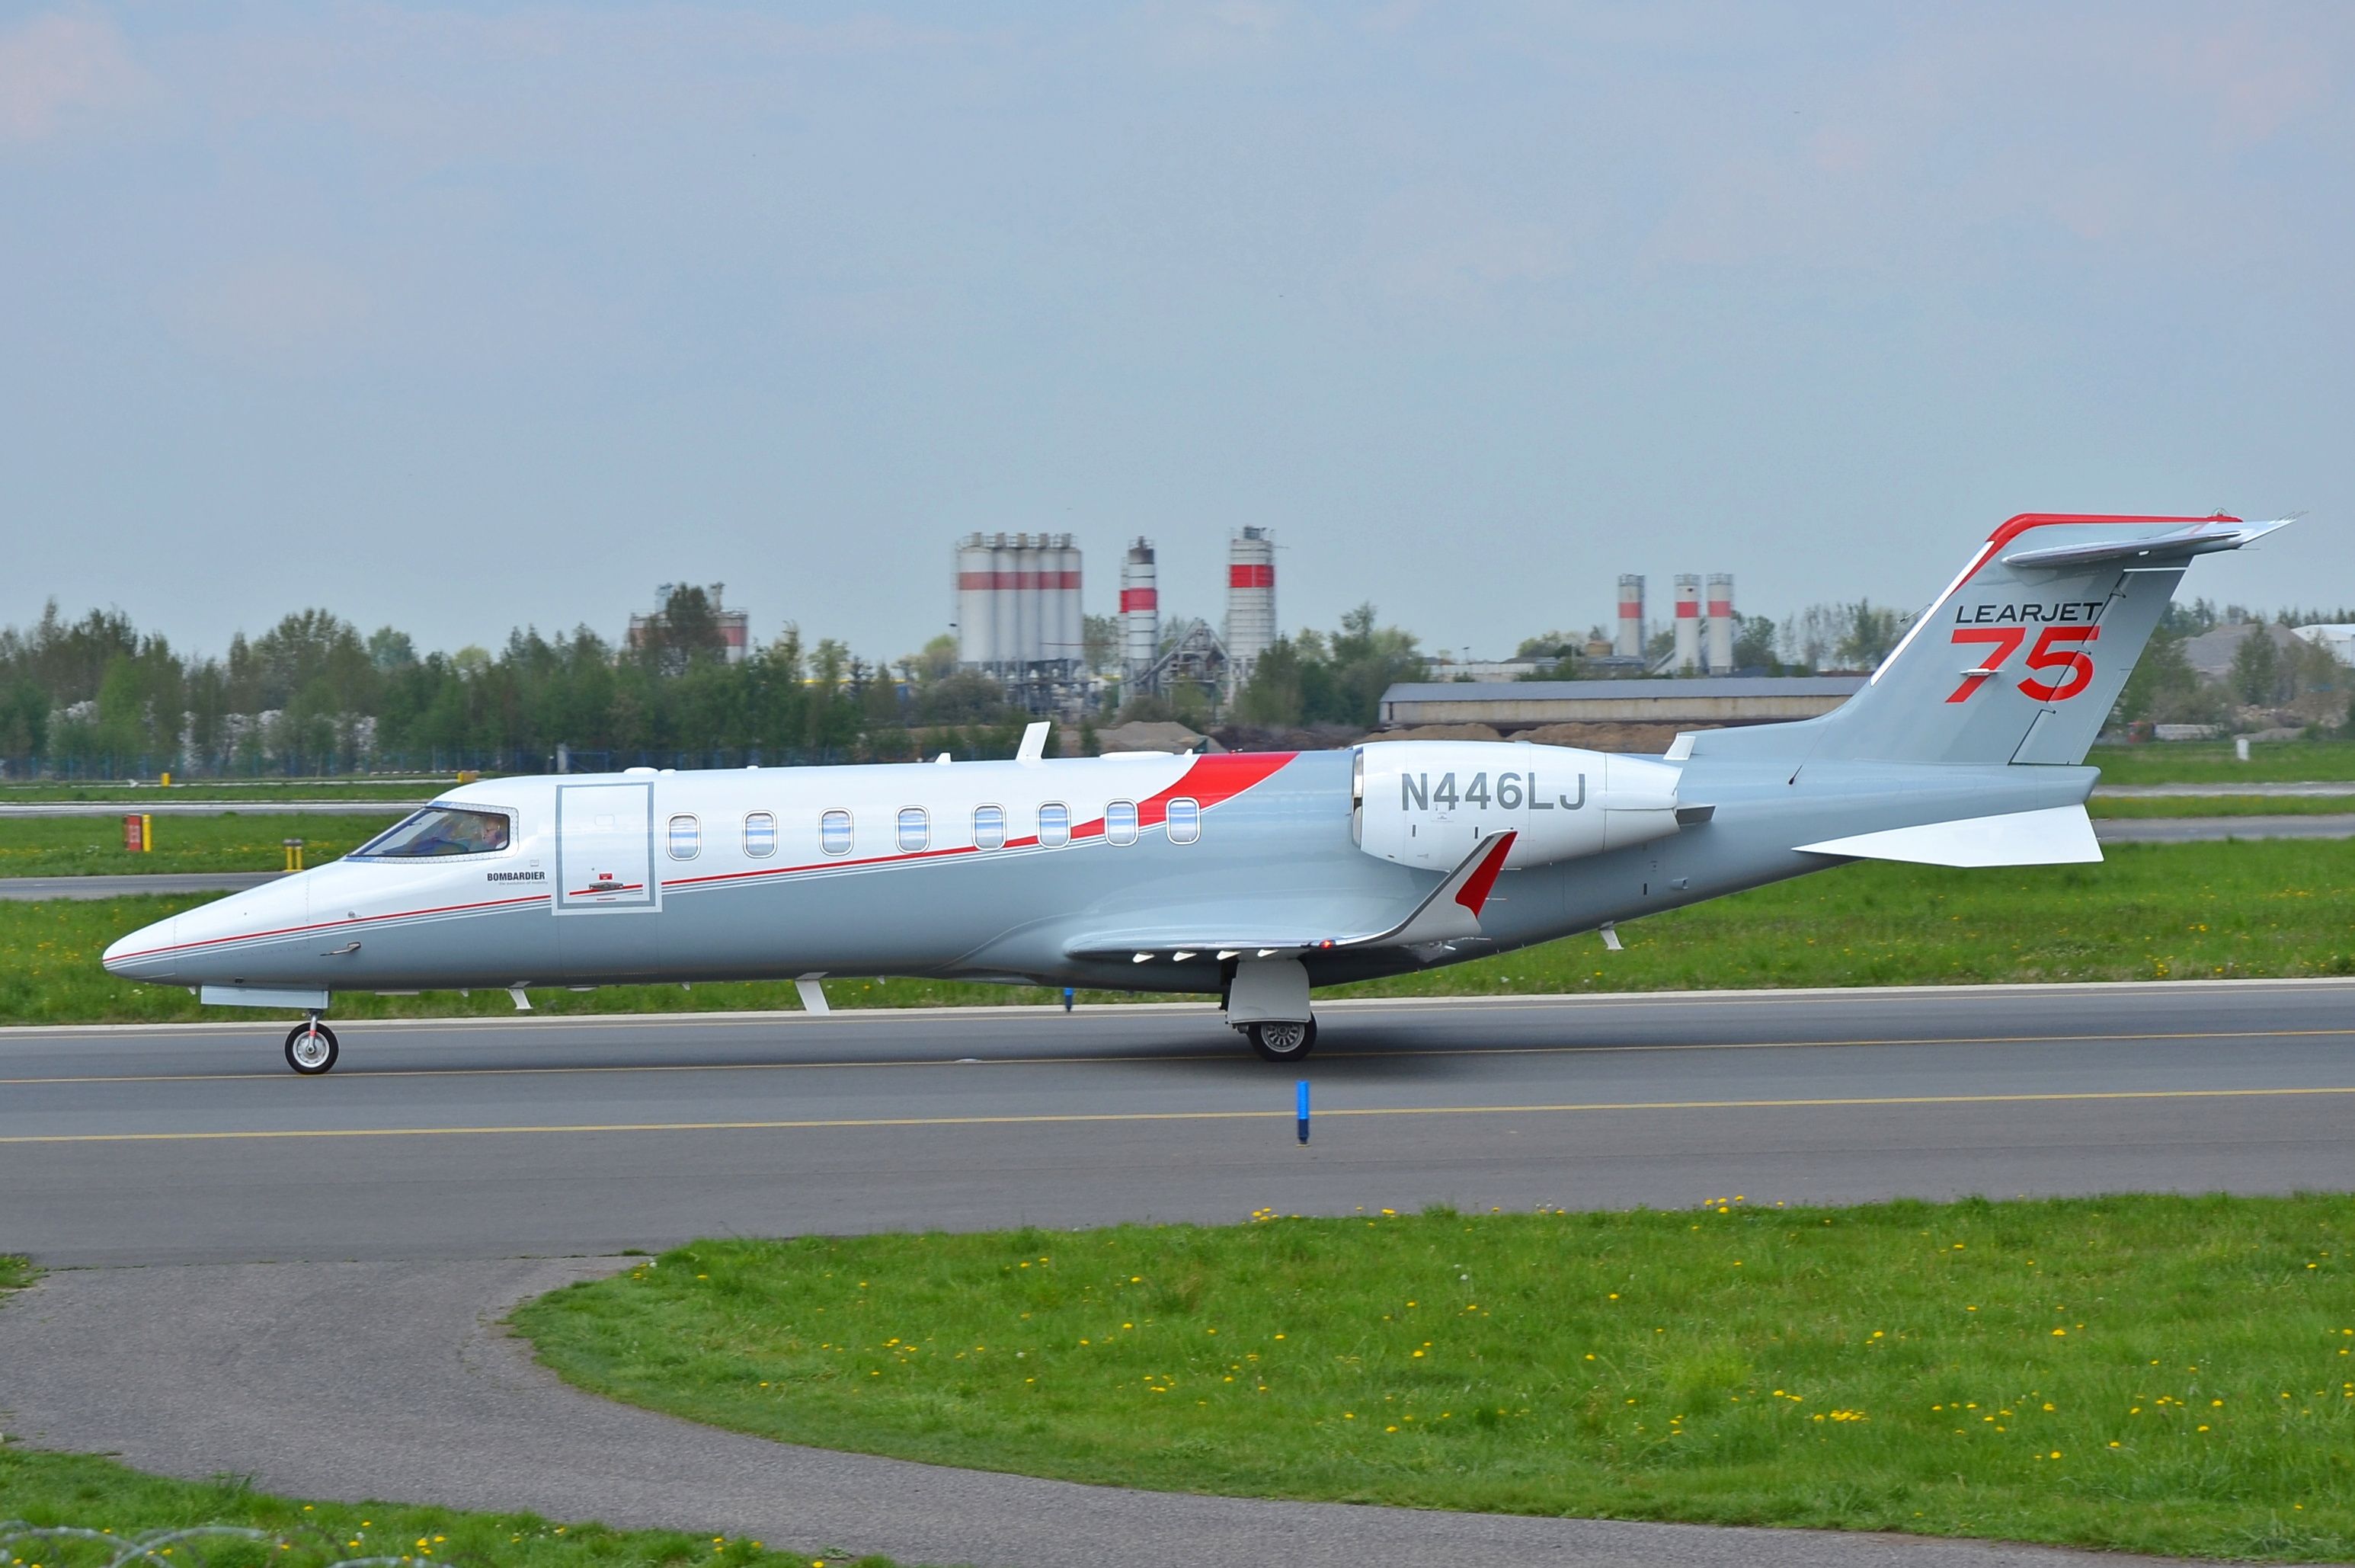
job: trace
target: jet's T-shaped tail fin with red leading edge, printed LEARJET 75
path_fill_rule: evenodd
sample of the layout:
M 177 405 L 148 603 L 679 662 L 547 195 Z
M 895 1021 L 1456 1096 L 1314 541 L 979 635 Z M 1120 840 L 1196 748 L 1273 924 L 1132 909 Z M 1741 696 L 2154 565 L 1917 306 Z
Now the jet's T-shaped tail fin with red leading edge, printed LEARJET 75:
M 1865 690 L 1823 718 L 1773 725 L 1799 742 L 1776 751 L 2077 765 L 2193 556 L 2240 549 L 2275 527 L 2282 523 L 2221 513 L 2011 518 L 1905 631 Z M 1764 730 L 1750 735 L 1764 739 Z

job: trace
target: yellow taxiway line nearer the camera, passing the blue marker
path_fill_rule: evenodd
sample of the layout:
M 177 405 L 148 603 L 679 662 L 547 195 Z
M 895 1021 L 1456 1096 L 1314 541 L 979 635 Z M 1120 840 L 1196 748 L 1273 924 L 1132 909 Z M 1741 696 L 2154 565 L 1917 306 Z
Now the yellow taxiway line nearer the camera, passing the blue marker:
M 1571 1104 L 1432 1104 L 1345 1107 L 1319 1111 L 1333 1118 L 1361 1116 L 1573 1116 L 1587 1111 L 1792 1111 L 1948 1104 L 2072 1104 L 2103 1099 L 2287 1099 L 2313 1095 L 2355 1097 L 2355 1085 L 2247 1088 L 2247 1090 L 2082 1090 L 2063 1095 L 1865 1095 L 1853 1099 L 1597 1099 Z M 306 1137 L 511 1137 L 532 1132 L 822 1132 L 860 1128 L 1041 1128 L 1069 1123 L 1137 1121 L 1291 1121 L 1291 1111 L 1069 1111 L 1034 1116 L 845 1116 L 791 1121 L 579 1121 L 497 1128 L 264 1128 L 233 1132 L 16 1132 L 0 1144 L 203 1144 L 268 1142 Z

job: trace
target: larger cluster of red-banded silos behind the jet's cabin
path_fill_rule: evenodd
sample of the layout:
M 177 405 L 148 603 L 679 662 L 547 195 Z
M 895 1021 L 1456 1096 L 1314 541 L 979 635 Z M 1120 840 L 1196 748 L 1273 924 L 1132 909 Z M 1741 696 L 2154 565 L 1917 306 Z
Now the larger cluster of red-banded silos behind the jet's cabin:
M 1119 680 L 1123 697 L 1199 687 L 1227 702 L 1276 640 L 1276 534 L 1227 537 L 1227 622 L 1161 622 L 1161 570 L 1152 539 L 1121 553 Z M 1081 610 L 1081 556 L 1072 534 L 966 534 L 956 542 L 956 664 L 1001 680 L 1034 713 L 1095 697 Z

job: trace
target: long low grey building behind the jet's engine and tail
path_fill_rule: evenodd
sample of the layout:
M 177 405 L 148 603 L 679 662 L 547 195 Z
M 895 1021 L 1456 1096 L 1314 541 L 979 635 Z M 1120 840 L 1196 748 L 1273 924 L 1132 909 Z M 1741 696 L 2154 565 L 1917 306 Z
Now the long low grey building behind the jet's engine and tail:
M 1865 676 L 1754 676 L 1700 680 L 1413 680 L 1382 692 L 1382 727 L 1488 725 L 1498 735 L 1545 725 L 1771 725 L 1816 718 Z

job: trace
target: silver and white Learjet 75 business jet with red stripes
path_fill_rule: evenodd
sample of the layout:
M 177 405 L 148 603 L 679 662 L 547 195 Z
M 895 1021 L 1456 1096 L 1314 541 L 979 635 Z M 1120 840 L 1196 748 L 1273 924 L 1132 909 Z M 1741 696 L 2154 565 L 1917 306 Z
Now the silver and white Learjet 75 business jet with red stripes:
M 1844 706 L 1665 756 L 1517 742 L 483 779 L 106 968 L 207 1005 L 921 975 L 1218 996 L 1267 1059 L 1314 986 L 1604 930 L 1851 859 L 2101 859 L 2084 768 L 2193 556 L 2280 523 L 2021 516 Z

